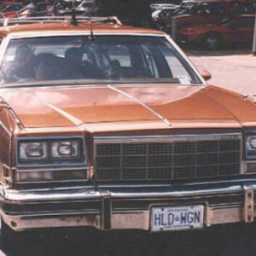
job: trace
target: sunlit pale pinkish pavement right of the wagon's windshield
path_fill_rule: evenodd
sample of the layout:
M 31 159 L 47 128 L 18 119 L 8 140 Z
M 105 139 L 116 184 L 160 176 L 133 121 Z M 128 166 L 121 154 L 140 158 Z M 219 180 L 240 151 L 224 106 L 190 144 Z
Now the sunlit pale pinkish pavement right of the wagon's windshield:
M 235 90 L 244 95 L 256 95 L 256 56 L 252 49 L 184 50 L 195 67 L 212 73 L 208 84 Z

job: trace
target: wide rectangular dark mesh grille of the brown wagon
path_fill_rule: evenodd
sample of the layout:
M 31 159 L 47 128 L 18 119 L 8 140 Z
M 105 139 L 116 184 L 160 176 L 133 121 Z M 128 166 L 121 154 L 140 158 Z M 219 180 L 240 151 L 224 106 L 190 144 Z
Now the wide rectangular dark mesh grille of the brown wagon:
M 99 180 L 158 180 L 233 176 L 240 173 L 241 138 L 166 137 L 153 142 L 96 142 Z M 128 142 L 129 141 L 129 142 Z

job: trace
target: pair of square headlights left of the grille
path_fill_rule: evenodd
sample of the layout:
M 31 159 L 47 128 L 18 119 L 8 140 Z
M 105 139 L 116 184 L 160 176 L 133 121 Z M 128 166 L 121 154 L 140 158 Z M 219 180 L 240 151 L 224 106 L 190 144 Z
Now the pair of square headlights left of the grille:
M 84 139 L 18 139 L 18 165 L 63 165 L 86 162 Z

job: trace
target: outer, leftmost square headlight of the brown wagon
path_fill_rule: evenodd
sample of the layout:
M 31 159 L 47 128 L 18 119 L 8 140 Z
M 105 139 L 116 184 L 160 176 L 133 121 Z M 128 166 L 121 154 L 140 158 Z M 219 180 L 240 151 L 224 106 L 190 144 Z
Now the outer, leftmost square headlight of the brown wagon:
M 47 143 L 20 143 L 20 160 L 46 160 L 48 156 Z

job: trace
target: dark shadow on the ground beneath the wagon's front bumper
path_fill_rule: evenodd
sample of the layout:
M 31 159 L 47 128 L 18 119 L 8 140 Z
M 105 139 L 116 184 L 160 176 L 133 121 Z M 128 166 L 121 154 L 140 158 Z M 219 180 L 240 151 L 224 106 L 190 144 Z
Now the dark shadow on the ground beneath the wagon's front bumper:
M 32 236 L 33 235 L 33 236 Z M 238 256 L 256 253 L 256 225 L 165 233 L 88 230 L 27 233 L 8 256 Z

